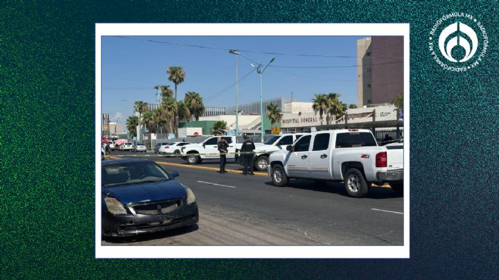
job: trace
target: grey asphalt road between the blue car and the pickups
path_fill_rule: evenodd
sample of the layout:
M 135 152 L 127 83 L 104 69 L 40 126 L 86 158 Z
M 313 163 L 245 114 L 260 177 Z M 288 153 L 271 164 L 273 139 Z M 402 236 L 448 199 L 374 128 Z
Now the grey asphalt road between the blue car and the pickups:
M 341 183 L 290 180 L 277 187 L 267 175 L 216 173 L 218 160 L 195 166 L 151 153 L 113 152 L 112 157 L 148 157 L 195 193 L 200 222 L 132 238 L 107 238 L 103 245 L 403 245 L 403 198 L 373 188 L 366 198 L 349 198 Z

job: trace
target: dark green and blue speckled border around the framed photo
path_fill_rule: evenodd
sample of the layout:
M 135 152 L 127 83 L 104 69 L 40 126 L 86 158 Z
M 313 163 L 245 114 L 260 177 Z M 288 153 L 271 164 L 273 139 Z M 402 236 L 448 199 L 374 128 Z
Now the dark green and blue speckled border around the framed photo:
M 499 274 L 497 1 L 2 1 L 1 259 L 12 278 L 493 278 Z M 450 73 L 428 33 L 468 12 L 484 64 Z M 408 260 L 94 259 L 96 22 L 410 23 Z

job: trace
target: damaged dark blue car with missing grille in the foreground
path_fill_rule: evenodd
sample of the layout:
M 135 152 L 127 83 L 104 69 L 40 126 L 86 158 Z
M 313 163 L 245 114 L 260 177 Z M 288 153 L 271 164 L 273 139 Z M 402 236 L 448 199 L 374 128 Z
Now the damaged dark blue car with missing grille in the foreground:
M 195 225 L 193 191 L 148 159 L 102 161 L 102 234 L 132 236 Z

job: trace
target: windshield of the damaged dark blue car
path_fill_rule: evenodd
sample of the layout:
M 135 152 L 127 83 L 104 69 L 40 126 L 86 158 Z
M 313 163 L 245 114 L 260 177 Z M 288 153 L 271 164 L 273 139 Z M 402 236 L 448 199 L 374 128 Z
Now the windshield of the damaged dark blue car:
M 128 162 L 102 166 L 102 186 L 119 186 L 171 180 L 154 162 Z

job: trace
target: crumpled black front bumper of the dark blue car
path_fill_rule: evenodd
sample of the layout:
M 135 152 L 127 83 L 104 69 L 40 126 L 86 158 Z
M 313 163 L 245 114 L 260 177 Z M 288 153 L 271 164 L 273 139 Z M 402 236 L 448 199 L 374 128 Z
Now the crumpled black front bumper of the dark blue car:
M 164 231 L 195 225 L 199 221 L 198 204 L 193 202 L 180 209 L 159 215 L 102 214 L 103 236 L 133 236 L 147 232 Z

